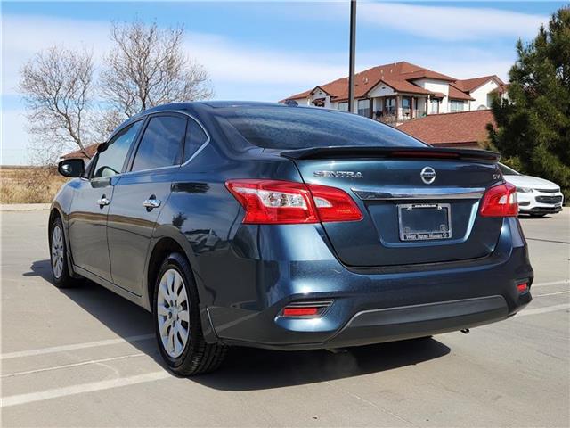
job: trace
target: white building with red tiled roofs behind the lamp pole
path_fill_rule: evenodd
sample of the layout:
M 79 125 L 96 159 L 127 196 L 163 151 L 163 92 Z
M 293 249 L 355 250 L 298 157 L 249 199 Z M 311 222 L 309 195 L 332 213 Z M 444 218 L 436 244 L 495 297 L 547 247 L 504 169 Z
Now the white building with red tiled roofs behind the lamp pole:
M 432 114 L 474 111 L 491 107 L 503 96 L 497 76 L 458 79 L 410 62 L 379 65 L 354 77 L 354 111 L 371 119 L 399 125 Z M 348 110 L 348 78 L 315 86 L 281 100 Z

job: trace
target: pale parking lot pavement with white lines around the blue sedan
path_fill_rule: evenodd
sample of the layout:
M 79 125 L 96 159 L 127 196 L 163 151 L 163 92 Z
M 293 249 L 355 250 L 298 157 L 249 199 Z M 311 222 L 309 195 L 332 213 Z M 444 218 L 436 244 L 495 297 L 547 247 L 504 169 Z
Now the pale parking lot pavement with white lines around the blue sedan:
M 568 426 L 570 210 L 522 218 L 534 300 L 516 317 L 414 342 L 235 348 L 216 374 L 161 366 L 151 315 L 50 283 L 48 211 L 2 213 L 3 426 Z

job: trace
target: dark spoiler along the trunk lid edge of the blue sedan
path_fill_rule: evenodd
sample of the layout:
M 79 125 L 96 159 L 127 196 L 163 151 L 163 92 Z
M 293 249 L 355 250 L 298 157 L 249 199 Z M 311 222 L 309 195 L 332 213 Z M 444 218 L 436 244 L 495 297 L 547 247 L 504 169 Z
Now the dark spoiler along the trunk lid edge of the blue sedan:
M 285 158 L 296 161 L 330 158 L 421 158 L 495 163 L 501 159 L 501 154 L 487 150 L 440 149 L 434 147 L 366 147 L 362 145 L 312 147 L 308 149 L 288 150 L 280 154 Z

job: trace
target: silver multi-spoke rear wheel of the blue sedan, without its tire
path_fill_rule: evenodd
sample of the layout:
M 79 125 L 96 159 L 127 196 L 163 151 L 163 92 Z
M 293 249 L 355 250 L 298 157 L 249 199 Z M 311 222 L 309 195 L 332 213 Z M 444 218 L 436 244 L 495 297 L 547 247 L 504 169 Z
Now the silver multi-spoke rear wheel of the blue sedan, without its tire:
M 190 306 L 183 277 L 174 268 L 160 278 L 157 295 L 160 340 L 171 358 L 177 358 L 190 337 Z

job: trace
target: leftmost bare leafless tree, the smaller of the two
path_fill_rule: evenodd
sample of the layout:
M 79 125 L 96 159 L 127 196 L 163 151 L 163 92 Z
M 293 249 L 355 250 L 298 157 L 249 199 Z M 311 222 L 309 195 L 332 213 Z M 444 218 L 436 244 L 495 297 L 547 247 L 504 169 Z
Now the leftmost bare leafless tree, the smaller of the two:
M 90 144 L 87 110 L 91 103 L 92 54 L 52 47 L 37 53 L 21 69 L 20 92 L 28 107 L 28 130 L 36 136 L 36 156 L 57 161 L 70 147 L 85 153 Z

